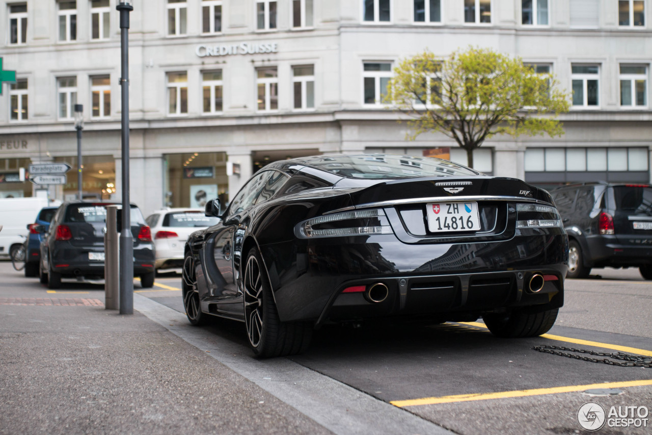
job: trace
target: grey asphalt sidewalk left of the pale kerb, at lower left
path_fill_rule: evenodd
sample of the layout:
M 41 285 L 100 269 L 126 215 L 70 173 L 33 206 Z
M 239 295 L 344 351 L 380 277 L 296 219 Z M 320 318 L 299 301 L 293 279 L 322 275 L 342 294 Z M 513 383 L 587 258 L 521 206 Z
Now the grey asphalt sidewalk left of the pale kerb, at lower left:
M 0 434 L 330 433 L 103 291 L 48 294 L 6 266 Z

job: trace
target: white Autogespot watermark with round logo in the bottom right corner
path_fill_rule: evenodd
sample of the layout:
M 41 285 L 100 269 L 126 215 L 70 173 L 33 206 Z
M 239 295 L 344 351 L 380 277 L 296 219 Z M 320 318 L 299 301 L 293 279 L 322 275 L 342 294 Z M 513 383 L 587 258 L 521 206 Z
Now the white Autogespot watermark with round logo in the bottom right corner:
M 607 427 L 647 427 L 647 406 L 612 406 L 606 411 L 596 402 L 586 402 L 577 411 L 577 421 L 585 430 L 594 432 Z

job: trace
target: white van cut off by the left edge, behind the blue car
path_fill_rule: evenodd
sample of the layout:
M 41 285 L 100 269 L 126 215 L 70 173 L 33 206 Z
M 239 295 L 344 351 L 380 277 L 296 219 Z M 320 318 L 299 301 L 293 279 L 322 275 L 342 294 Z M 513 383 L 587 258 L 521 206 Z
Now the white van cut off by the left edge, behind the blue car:
M 47 206 L 46 198 L 0 198 L 0 257 L 8 257 L 12 247 L 25 242 L 27 224 L 34 223 L 40 209 Z

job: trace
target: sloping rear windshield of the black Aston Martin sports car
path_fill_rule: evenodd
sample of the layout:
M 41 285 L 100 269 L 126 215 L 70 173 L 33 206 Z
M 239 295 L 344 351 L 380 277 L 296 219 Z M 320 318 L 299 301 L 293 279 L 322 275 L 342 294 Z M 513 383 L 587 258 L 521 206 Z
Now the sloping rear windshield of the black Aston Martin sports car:
M 347 178 L 380 180 L 451 175 L 469 176 L 478 173 L 447 160 L 410 155 L 323 155 L 306 159 L 305 163 Z

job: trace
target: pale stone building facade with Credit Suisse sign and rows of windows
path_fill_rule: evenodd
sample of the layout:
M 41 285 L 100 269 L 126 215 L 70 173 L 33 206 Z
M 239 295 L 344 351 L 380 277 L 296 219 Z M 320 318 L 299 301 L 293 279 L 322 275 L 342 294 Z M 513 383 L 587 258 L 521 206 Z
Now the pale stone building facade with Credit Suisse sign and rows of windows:
M 269 161 L 319 153 L 451 148 L 406 140 L 381 103 L 393 67 L 424 50 L 488 47 L 574 91 L 565 134 L 496 137 L 475 167 L 539 185 L 650 182 L 650 0 L 135 0 L 130 14 L 131 199 L 143 213 L 225 201 Z M 0 0 L 0 196 L 31 163 L 67 162 L 78 190 L 74 105 L 83 105 L 84 196 L 119 199 L 121 102 L 115 0 Z M 239 174 L 227 168 L 235 164 Z M 237 172 L 237 171 L 236 171 Z

